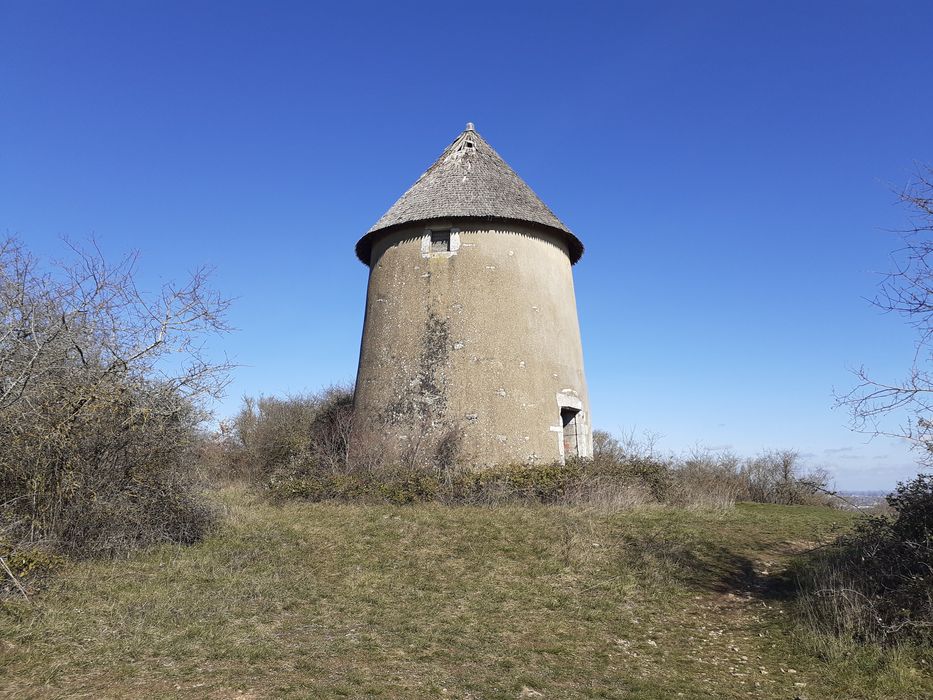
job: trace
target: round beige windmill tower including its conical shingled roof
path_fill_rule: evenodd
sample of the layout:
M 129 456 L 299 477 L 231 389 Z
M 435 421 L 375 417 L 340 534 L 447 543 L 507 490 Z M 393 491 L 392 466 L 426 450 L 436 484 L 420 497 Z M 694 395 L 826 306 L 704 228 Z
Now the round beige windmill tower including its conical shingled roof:
M 583 244 L 472 124 L 356 254 L 370 272 L 355 449 L 476 467 L 592 454 Z

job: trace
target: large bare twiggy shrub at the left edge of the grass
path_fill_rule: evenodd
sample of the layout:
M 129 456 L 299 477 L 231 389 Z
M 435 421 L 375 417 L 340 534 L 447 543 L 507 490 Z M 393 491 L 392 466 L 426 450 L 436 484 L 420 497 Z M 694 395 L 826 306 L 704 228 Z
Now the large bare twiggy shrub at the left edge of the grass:
M 203 352 L 227 302 L 199 271 L 155 295 L 135 257 L 96 249 L 43 272 L 0 243 L 0 539 L 72 554 L 191 542 L 211 522 L 193 483 L 202 399 L 226 362 Z

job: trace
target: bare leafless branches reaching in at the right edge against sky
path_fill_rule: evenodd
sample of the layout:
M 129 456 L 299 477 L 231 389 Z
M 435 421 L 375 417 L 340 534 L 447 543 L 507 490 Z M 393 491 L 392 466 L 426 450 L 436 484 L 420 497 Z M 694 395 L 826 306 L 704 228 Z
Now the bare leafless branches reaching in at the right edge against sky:
M 908 209 L 910 225 L 898 231 L 902 246 L 892 254 L 893 270 L 886 275 L 877 297 L 879 308 L 901 314 L 917 331 L 913 361 L 901 381 L 886 382 L 866 368 L 855 374 L 857 386 L 837 397 L 851 413 L 853 428 L 876 435 L 904 438 L 913 444 L 921 461 L 933 464 L 933 168 L 921 167 L 898 195 Z M 900 425 L 887 427 L 887 419 L 904 416 Z

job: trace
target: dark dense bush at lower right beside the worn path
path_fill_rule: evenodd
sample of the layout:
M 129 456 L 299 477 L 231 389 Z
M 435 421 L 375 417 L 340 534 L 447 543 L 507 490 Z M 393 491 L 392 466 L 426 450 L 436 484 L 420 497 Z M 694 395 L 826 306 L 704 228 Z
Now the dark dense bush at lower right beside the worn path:
M 811 627 L 857 641 L 933 642 L 933 474 L 898 484 L 891 516 L 853 532 L 796 569 L 797 612 Z

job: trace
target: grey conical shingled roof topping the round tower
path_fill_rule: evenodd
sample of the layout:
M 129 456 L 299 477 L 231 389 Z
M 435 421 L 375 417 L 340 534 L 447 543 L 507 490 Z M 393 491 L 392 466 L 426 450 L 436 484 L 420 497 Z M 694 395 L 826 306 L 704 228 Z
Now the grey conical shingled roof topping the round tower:
M 538 224 L 567 242 L 570 262 L 583 255 L 583 244 L 547 208 L 502 156 L 467 124 L 382 218 L 356 244 L 369 264 L 373 241 L 388 229 L 429 219 L 505 219 Z

